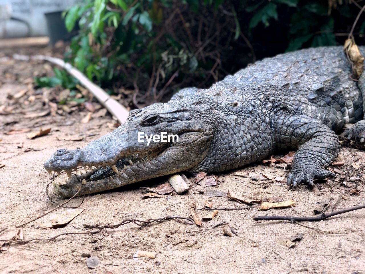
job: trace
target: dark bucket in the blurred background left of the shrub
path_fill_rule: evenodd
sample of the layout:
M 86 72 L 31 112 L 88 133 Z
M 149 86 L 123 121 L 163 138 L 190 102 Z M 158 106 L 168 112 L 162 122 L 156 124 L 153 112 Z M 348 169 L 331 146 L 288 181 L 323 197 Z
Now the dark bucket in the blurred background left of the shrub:
M 45 13 L 50 45 L 54 45 L 59 40 L 70 41 L 78 33 L 78 24 L 75 24 L 75 28 L 70 33 L 66 30 L 62 12 L 54 11 Z

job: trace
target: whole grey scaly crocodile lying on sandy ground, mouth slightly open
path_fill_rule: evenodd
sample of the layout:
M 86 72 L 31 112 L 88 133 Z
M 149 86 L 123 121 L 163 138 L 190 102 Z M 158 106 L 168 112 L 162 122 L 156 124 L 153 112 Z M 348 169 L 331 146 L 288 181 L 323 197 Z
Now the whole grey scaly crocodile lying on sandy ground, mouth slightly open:
M 169 102 L 132 110 L 118 129 L 85 148 L 57 150 L 44 167 L 66 172 L 69 179 L 54 189 L 71 197 L 183 171 L 228 171 L 296 150 L 287 184 L 313 187 L 315 179 L 335 176 L 327 167 L 346 123 L 354 125 L 343 136 L 365 141 L 364 79 L 351 79 L 341 46 L 265 58 L 210 88 L 184 88 Z M 139 132 L 174 134 L 178 141 L 147 145 Z M 78 174 L 81 167 L 85 173 Z

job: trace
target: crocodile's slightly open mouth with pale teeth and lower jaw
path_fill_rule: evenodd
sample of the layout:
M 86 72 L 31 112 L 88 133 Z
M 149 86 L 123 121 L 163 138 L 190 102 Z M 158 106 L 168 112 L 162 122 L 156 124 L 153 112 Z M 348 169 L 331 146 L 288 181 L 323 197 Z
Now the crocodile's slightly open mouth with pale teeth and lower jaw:
M 48 164 L 47 162 L 45 163 L 45 168 L 53 176 L 52 183 L 57 194 L 64 197 L 72 197 L 75 194 L 90 194 L 114 189 L 141 180 L 139 175 L 153 168 L 156 161 L 158 162 L 158 158 L 162 157 L 161 155 L 169 147 L 169 144 L 166 143 L 149 153 L 120 154 L 120 157 L 116 157 L 113 161 L 108 160 L 108 165 L 104 165 L 105 161 L 101 162 L 100 165 L 95 163 L 95 165 L 80 165 L 77 163 L 72 168 L 61 170 L 60 168 L 53 168 L 53 165 L 49 163 L 50 160 L 48 160 Z M 67 151 L 63 150 L 66 153 Z M 68 153 L 72 153 L 72 151 L 68 151 Z M 56 157 L 51 163 L 56 163 L 57 161 Z M 59 177 L 63 173 L 66 173 L 68 176 L 64 183 L 55 180 L 56 174 Z M 153 177 L 155 176 L 150 178 Z

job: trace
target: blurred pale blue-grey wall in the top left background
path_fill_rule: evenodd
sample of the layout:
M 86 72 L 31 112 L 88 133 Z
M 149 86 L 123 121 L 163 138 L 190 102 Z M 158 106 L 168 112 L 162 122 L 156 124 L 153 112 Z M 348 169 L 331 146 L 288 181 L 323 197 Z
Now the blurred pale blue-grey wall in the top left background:
M 0 0 L 0 38 L 48 35 L 44 14 L 63 11 L 78 1 Z

